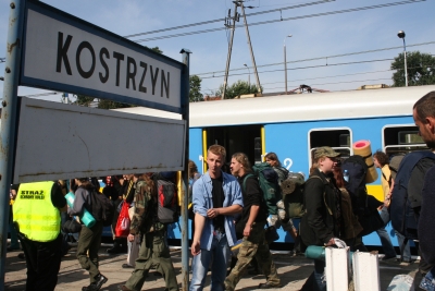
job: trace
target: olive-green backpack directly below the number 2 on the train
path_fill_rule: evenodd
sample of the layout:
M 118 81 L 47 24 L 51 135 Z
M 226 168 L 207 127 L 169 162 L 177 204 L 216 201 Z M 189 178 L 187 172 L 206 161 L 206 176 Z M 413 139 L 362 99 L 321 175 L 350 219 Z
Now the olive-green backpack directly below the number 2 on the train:
M 300 218 L 306 213 L 303 206 L 304 178 L 301 173 L 289 172 L 288 178 L 281 183 L 285 210 L 284 222 L 290 218 Z

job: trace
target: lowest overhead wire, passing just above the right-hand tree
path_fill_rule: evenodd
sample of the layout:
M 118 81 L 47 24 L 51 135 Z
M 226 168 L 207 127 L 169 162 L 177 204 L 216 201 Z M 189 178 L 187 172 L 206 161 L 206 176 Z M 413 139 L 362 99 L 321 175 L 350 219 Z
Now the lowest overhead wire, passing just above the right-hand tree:
M 426 46 L 426 45 L 433 45 L 435 41 L 427 41 L 427 43 L 421 43 L 421 44 L 414 44 L 414 45 L 407 45 L 407 47 L 419 47 L 419 46 Z M 294 60 L 294 61 L 288 61 L 287 63 L 298 63 L 298 62 L 308 62 L 308 61 L 318 61 L 318 60 L 328 60 L 328 59 L 334 59 L 334 58 L 341 58 L 341 57 L 348 57 L 348 56 L 356 56 L 356 54 L 363 54 L 363 53 L 371 53 L 371 52 L 377 52 L 377 51 L 384 51 L 384 50 L 393 50 L 393 49 L 402 49 L 402 46 L 398 47 L 389 47 L 389 48 L 380 48 L 380 49 L 371 49 L 371 50 L 362 50 L 362 51 L 355 51 L 355 52 L 347 52 L 347 53 L 340 53 L 340 54 L 332 54 L 332 56 L 323 56 L 323 57 L 315 57 L 315 58 L 310 58 L 310 59 L 300 59 L 300 60 Z M 260 64 L 257 65 L 257 68 L 265 68 L 265 66 L 273 66 L 273 65 L 282 65 L 284 62 L 276 62 L 276 63 L 268 63 L 268 64 Z M 243 68 L 236 68 L 232 69 L 229 71 L 243 71 L 246 70 L 246 66 Z M 211 74 L 216 74 L 216 73 L 223 73 L 224 71 L 213 71 L 213 72 L 206 72 L 206 73 L 198 73 L 194 75 L 201 76 L 201 75 L 211 75 Z M 203 76 L 201 78 L 207 78 L 207 76 Z

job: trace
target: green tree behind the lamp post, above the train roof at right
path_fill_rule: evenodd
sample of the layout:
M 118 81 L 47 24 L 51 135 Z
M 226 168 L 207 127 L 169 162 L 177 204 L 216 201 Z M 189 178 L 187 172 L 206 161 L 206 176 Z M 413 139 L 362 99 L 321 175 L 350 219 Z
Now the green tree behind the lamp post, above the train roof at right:
M 435 57 L 420 51 L 407 52 L 408 86 L 421 86 L 435 84 Z M 393 86 L 405 86 L 405 58 L 403 53 L 391 62 L 391 70 L 397 70 L 393 74 Z

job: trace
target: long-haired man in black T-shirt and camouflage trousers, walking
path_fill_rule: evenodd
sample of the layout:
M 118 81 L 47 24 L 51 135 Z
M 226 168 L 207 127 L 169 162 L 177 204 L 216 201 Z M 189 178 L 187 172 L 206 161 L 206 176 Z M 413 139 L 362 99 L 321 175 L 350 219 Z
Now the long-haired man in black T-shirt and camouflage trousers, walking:
M 281 280 L 264 237 L 268 211 L 259 182 L 251 174 L 252 170 L 248 157 L 243 153 L 234 154 L 231 161 L 231 171 L 237 177 L 244 195 L 244 210 L 241 218 L 236 223 L 237 235 L 241 234 L 244 240 L 237 255 L 237 264 L 225 279 L 225 290 L 234 291 L 254 256 L 268 280 L 265 283 L 260 283 L 258 288 L 279 288 Z

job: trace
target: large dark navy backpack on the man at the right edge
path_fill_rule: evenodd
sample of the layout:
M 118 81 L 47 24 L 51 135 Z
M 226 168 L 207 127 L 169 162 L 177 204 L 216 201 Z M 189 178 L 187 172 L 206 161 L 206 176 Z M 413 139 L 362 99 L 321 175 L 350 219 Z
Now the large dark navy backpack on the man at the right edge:
M 411 240 L 418 239 L 419 213 L 414 209 L 421 206 L 421 196 L 410 197 L 408 185 L 417 163 L 423 158 L 430 158 L 435 163 L 435 155 L 431 151 L 413 151 L 403 157 L 397 171 L 391 203 L 389 204 L 393 228 Z M 419 203 L 417 203 L 417 199 L 419 199 Z

